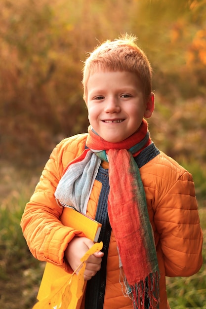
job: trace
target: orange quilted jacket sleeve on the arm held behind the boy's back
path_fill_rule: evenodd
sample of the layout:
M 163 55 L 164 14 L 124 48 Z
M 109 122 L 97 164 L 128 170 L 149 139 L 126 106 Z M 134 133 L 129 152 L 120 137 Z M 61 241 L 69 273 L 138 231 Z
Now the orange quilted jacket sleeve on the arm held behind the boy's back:
M 190 276 L 203 263 L 203 233 L 192 176 L 183 168 L 178 173 L 174 182 L 168 174 L 163 175 L 164 189 L 154 220 L 164 254 L 165 274 Z

